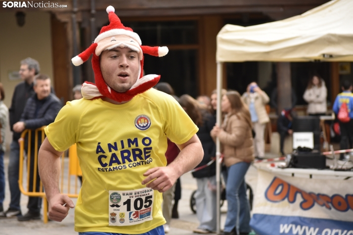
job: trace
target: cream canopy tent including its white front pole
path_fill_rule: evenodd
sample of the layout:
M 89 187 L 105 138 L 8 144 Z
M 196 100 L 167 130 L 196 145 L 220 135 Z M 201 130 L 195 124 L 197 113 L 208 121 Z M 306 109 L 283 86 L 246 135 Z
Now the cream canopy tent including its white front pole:
M 302 15 L 242 27 L 225 25 L 217 35 L 217 123 L 221 126 L 222 63 L 243 61 L 353 61 L 353 0 L 332 0 Z M 220 141 L 217 139 L 220 190 Z M 220 192 L 217 194 L 220 201 Z M 220 207 L 217 233 L 220 233 Z

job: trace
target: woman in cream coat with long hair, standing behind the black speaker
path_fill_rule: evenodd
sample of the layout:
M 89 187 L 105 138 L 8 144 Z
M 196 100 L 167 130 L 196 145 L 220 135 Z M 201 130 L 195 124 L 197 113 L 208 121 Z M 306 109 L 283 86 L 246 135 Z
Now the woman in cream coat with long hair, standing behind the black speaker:
M 327 88 L 325 81 L 319 75 L 314 75 L 310 80 L 303 98 L 308 102 L 307 113 L 310 116 L 323 116 L 327 112 Z

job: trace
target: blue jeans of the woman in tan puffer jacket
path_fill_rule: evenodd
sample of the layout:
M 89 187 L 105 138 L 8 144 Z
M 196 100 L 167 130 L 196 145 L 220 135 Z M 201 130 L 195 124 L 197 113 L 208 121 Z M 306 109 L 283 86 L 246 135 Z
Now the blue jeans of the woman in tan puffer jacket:
M 245 174 L 250 163 L 239 162 L 227 168 L 226 198 L 228 202 L 224 232 L 236 228 L 237 234 L 250 233 L 250 205 L 246 196 Z

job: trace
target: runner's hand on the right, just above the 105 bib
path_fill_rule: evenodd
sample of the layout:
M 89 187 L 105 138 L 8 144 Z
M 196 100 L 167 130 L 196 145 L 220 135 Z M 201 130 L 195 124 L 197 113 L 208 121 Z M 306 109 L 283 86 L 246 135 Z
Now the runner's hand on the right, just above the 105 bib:
M 141 184 L 153 190 L 158 190 L 160 193 L 172 188 L 177 178 L 179 178 L 171 166 L 154 167 L 147 170 L 143 176 L 146 176 L 146 178 Z

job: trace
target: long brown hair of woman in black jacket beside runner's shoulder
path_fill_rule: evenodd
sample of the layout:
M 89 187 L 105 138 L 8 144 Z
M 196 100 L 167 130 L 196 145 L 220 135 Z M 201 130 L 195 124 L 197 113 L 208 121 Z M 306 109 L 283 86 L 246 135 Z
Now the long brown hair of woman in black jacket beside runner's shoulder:
M 201 107 L 199 102 L 189 95 L 182 95 L 179 98 L 179 104 L 185 108 L 186 114 L 191 118 L 195 125 L 203 124 Z

